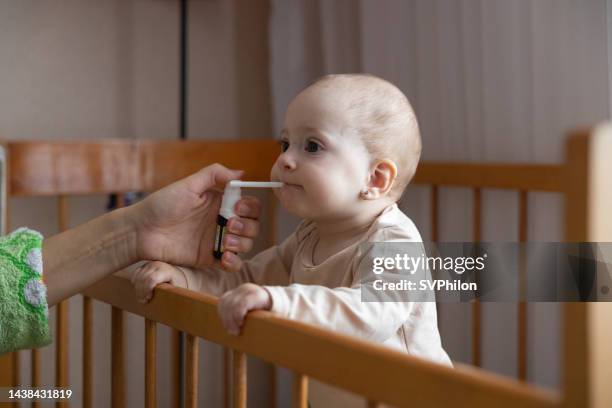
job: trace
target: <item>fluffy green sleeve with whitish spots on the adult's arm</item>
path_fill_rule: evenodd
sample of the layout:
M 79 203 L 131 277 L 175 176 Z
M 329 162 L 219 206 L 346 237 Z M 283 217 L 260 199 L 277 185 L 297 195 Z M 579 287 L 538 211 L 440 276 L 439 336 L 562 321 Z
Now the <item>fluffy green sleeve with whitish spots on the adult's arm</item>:
M 27 228 L 0 238 L 0 354 L 51 343 L 42 240 Z

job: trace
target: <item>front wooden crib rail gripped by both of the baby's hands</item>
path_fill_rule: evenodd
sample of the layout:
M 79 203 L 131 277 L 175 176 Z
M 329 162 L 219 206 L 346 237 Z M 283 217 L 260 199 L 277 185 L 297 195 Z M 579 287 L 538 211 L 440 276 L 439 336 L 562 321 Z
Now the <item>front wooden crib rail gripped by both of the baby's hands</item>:
M 559 404 L 556 394 L 525 383 L 460 364 L 454 369 L 447 368 L 388 347 L 278 318 L 269 312 L 250 313 L 242 334 L 232 336 L 221 326 L 216 298 L 166 284 L 155 289 L 153 300 L 147 305 L 136 300 L 130 282 L 120 277 L 107 278 L 85 294 L 147 321 L 160 322 L 231 348 L 235 356 L 237 353 L 242 357 L 242 353 L 256 356 L 302 376 L 394 406 L 434 408 L 452 403 L 457 408 L 535 408 Z M 146 361 L 149 359 L 152 357 L 147 356 Z M 235 370 L 235 375 L 237 371 L 243 386 L 235 394 L 244 401 L 246 370 L 244 367 Z

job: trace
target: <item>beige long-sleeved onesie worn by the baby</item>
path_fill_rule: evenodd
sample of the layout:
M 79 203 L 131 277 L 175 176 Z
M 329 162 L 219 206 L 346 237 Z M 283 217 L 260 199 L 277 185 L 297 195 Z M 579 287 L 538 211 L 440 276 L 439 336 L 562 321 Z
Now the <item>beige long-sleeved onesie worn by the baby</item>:
M 383 343 L 452 366 L 442 348 L 435 302 L 362 302 L 357 267 L 362 242 L 420 242 L 414 223 L 393 204 L 354 244 L 313 265 L 317 228 L 303 221 L 280 245 L 245 261 L 238 273 L 185 271 L 188 288 L 220 296 L 242 283 L 262 285 L 271 311 L 288 319 Z

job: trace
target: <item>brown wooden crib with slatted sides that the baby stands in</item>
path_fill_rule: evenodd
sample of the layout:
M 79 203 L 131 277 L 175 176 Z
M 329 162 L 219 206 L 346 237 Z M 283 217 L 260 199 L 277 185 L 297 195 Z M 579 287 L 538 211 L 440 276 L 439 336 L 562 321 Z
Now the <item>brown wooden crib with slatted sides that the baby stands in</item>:
M 220 162 L 246 170 L 245 178 L 265 180 L 278 145 L 271 139 L 240 141 L 16 141 L 5 144 L 8 156 L 9 196 L 57 196 L 59 230 L 67 225 L 69 195 L 116 193 L 119 204 L 128 191 L 153 191 L 197 169 Z M 568 241 L 612 240 L 612 187 L 606 177 L 612 165 L 604 152 L 612 152 L 612 132 L 584 131 L 567 142 L 567 159 L 561 165 L 508 165 L 422 163 L 415 183 L 431 186 L 432 237 L 438 236 L 438 191 L 441 186 L 462 186 L 474 194 L 473 236 L 480 239 L 481 192 L 510 189 L 519 192 L 521 241 L 529 225 L 527 196 L 534 191 L 558 192 L 565 200 L 565 238 Z M 5 173 L 5 172 L 3 172 Z M 267 216 L 275 217 L 274 201 L 268 200 Z M 3 206 L 6 209 L 6 205 Z M 14 226 L 16 227 L 16 226 Z M 36 227 L 36 226 L 32 226 Z M 266 240 L 275 241 L 270 228 Z M 83 303 L 83 401 L 92 399 L 92 305 L 91 299 L 112 305 L 112 406 L 124 406 L 123 313 L 143 316 L 145 321 L 145 406 L 156 406 L 156 325 L 174 329 L 173 355 L 177 355 L 178 333 L 185 342 L 184 381 L 174 381 L 173 404 L 178 406 L 180 387 L 184 405 L 198 406 L 198 338 L 226 348 L 226 406 L 246 405 L 246 355 L 257 356 L 295 373 L 292 404 L 307 407 L 308 378 L 362 395 L 368 406 L 381 403 L 405 407 L 604 407 L 612 406 L 612 393 L 605 384 L 612 353 L 605 347 L 610 335 L 611 309 L 607 304 L 564 305 L 562 390 L 542 389 L 526 378 L 525 304 L 519 309 L 519 380 L 478 368 L 480 365 L 480 305 L 473 303 L 472 344 L 474 366 L 456 364 L 454 369 L 438 366 L 377 344 L 350 338 L 317 327 L 287 321 L 268 312 L 255 312 L 240 337 L 223 330 L 217 318 L 216 299 L 184 289 L 161 285 L 148 305 L 136 302 L 126 279 L 109 277 L 84 293 Z M 67 304 L 56 307 L 56 384 L 67 383 Z M 200 318 L 191 319 L 197 315 Z M 295 352 L 295 350 L 299 350 Z M 32 351 L 32 384 L 40 385 L 37 352 Z M 178 379 L 178 358 L 173 378 Z M 17 359 L 0 359 L 0 385 L 17 385 Z M 274 383 L 274 382 L 273 382 Z M 273 390 L 271 390 L 273 392 Z M 77 402 L 76 405 L 80 405 Z M 0 404 L 1 405 L 1 404 Z M 61 404 L 58 404 L 61 405 Z M 67 404 L 64 403 L 66 406 Z

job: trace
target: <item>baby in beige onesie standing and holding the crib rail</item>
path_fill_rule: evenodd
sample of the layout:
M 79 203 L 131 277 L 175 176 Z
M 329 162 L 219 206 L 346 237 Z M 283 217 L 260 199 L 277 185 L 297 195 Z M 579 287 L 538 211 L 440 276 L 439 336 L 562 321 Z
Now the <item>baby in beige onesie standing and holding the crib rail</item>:
M 364 242 L 420 242 L 396 202 L 421 154 L 404 94 L 372 75 L 328 75 L 289 104 L 271 179 L 302 223 L 238 273 L 150 262 L 132 275 L 148 301 L 163 282 L 221 296 L 223 326 L 238 335 L 246 314 L 270 310 L 451 365 L 435 302 L 363 302 L 357 268 Z M 232 243 L 225 249 L 231 251 Z M 234 248 L 236 249 L 236 248 Z

